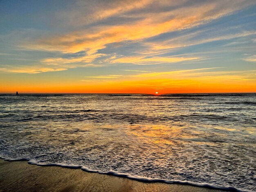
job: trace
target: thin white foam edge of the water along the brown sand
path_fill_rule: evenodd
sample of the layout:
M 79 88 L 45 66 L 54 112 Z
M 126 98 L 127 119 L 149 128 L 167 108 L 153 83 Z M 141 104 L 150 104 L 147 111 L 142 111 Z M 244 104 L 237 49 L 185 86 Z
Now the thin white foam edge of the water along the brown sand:
M 107 175 L 113 175 L 113 176 L 119 176 L 124 177 L 127 179 L 132 179 L 135 181 L 141 181 L 146 183 L 168 183 L 168 184 L 180 184 L 180 185 L 191 185 L 195 187 L 202 187 L 202 188 L 209 188 L 209 189 L 216 189 L 216 190 L 224 190 L 224 191 L 231 191 L 231 192 L 250 192 L 248 190 L 240 190 L 234 187 L 222 187 L 215 184 L 209 184 L 209 183 L 195 183 L 193 181 L 180 181 L 180 180 L 166 180 L 166 179 L 152 179 L 148 177 L 143 176 L 136 176 L 136 175 L 130 175 L 130 174 L 124 174 L 119 173 L 115 171 L 109 171 L 109 172 L 103 172 L 99 170 L 91 170 L 88 167 L 82 166 L 82 165 L 72 165 L 72 164 L 64 164 L 64 163 L 41 163 L 33 159 L 29 158 L 20 158 L 20 159 L 6 159 L 2 156 L 0 156 L 0 159 L 3 159 L 4 161 L 28 161 L 27 163 L 31 165 L 38 165 L 38 166 L 55 166 L 55 167 L 63 167 L 63 168 L 70 168 L 70 169 L 81 169 L 85 172 L 91 172 L 91 173 L 99 173 L 99 174 L 107 174 Z

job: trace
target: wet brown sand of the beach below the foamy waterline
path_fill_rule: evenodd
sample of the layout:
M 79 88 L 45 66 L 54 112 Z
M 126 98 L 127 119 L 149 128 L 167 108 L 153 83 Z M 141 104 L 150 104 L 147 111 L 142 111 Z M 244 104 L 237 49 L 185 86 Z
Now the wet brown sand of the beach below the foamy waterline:
M 41 167 L 27 161 L 0 159 L 0 191 L 90 192 L 220 192 L 189 185 L 144 183 L 117 176 L 88 173 L 80 169 Z

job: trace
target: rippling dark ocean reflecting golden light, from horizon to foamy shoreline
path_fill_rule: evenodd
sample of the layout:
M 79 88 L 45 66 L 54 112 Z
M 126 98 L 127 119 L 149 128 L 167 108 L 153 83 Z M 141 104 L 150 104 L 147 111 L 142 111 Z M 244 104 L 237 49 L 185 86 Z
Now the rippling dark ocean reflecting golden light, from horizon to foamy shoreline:
M 0 94 L 0 157 L 256 191 L 256 94 Z

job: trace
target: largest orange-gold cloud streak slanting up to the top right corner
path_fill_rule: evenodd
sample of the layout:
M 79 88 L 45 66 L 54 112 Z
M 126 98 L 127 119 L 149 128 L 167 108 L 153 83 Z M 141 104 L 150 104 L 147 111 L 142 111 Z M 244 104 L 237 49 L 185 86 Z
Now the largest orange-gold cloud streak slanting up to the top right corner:
M 87 53 L 91 55 L 96 53 L 99 49 L 106 48 L 107 44 L 113 42 L 128 40 L 138 41 L 162 33 L 188 29 L 205 24 L 211 20 L 232 13 L 235 10 L 246 7 L 252 4 L 252 1 L 228 0 L 220 2 L 214 0 L 201 4 L 198 3 L 196 6 L 187 6 L 186 1 L 181 1 L 180 4 L 184 4 L 184 7 L 177 6 L 177 9 L 172 8 L 173 3 L 170 4 L 170 2 L 166 3 L 165 1 L 160 1 L 158 4 L 154 3 L 159 10 L 167 5 L 170 7 L 170 10 L 157 12 L 148 12 L 151 11 L 150 5 L 152 5 L 152 1 L 140 1 L 140 3 L 134 3 L 141 5 L 141 7 L 139 7 L 144 8 L 146 11 L 136 13 L 141 18 L 140 20 L 113 26 L 92 26 L 90 29 L 75 31 L 61 36 L 43 37 L 35 42 L 28 42 L 23 46 L 28 49 L 62 51 L 63 53 L 87 51 Z M 145 7 L 145 4 L 147 4 L 149 8 L 147 6 Z M 174 3 L 174 5 L 175 4 L 177 5 L 177 3 Z M 127 10 L 137 9 L 137 7 L 137 5 L 132 5 Z M 108 9 L 108 7 L 106 7 L 106 9 Z M 118 14 L 119 12 L 123 13 L 124 10 L 125 8 L 118 8 L 115 14 Z M 84 16 L 81 15 L 81 17 Z M 102 19 L 103 18 L 105 18 L 104 13 L 102 15 Z

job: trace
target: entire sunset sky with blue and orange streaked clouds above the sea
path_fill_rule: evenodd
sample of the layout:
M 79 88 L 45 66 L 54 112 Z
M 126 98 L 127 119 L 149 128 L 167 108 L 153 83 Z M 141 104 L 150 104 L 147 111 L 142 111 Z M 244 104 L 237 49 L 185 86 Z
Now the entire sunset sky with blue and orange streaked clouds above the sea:
M 255 0 L 0 0 L 0 93 L 256 92 Z

